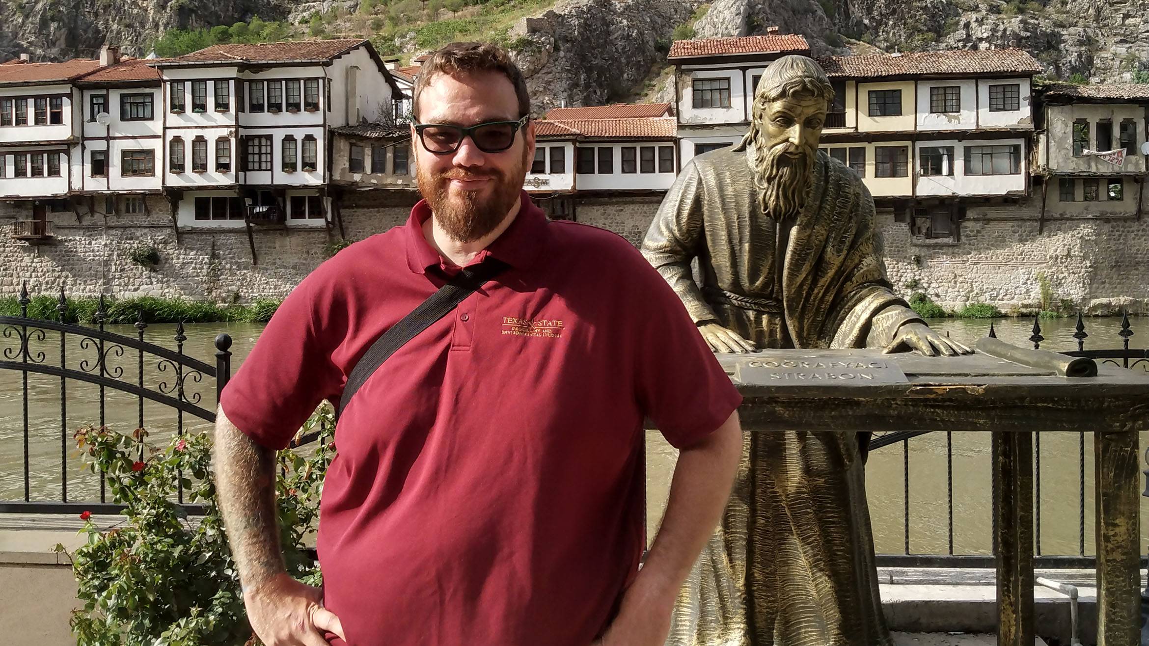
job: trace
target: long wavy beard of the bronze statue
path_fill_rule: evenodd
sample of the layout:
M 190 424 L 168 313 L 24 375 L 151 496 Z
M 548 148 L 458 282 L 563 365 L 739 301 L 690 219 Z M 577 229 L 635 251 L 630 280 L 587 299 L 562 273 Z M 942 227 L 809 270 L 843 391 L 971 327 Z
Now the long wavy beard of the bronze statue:
M 813 183 L 817 151 L 789 143 L 771 147 L 762 136 L 754 138 L 754 183 L 758 187 L 762 212 L 776 220 L 797 215 Z

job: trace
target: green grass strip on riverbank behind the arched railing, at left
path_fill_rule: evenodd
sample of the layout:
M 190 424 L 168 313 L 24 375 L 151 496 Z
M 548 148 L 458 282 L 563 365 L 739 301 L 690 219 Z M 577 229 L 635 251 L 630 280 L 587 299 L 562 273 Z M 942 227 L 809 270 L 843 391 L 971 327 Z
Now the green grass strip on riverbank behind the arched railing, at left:
M 216 305 L 208 301 L 186 299 L 160 299 L 139 297 L 130 299 L 106 298 L 105 323 L 136 323 L 140 313 L 145 323 L 267 323 L 282 301 L 259 299 L 250 305 Z M 28 316 L 47 321 L 60 321 L 60 301 L 56 297 L 39 294 L 28 303 Z M 95 323 L 99 299 L 68 299 L 64 323 Z M 20 316 L 16 297 L 0 297 L 0 316 Z

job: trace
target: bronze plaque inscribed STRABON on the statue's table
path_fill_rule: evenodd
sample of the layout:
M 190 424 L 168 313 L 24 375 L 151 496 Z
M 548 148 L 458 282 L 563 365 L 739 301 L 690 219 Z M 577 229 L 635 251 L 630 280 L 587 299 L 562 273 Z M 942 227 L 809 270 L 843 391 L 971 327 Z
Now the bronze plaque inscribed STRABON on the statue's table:
M 885 357 L 827 355 L 745 356 L 734 363 L 734 378 L 743 384 L 765 386 L 904 384 L 909 380 L 896 363 Z

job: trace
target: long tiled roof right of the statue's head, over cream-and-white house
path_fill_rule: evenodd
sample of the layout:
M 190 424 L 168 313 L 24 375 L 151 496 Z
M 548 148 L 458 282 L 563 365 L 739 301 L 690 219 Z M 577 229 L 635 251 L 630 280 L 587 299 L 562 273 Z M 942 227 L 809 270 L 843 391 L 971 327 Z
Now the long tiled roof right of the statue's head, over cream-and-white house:
M 887 76 L 1020 74 L 1034 75 L 1044 68 L 1025 49 L 950 49 L 862 56 L 823 56 L 818 64 L 826 76 L 881 78 Z

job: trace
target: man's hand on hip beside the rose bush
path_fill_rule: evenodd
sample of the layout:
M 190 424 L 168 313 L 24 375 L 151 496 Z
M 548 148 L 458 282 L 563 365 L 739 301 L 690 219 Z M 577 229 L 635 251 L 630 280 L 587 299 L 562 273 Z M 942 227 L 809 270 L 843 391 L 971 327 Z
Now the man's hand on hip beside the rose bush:
M 244 606 L 252 630 L 265 646 L 327 646 L 325 630 L 347 640 L 339 617 L 323 607 L 319 589 L 286 574 L 247 592 Z

